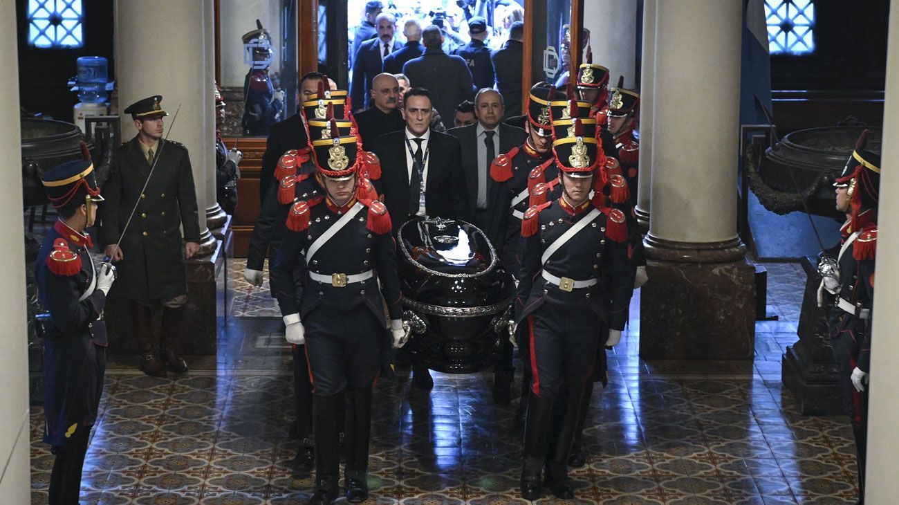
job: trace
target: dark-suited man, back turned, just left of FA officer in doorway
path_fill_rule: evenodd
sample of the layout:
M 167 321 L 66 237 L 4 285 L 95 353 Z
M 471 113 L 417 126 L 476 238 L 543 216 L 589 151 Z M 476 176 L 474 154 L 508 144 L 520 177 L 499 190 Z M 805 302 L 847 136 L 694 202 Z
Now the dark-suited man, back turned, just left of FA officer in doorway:
M 406 62 L 403 73 L 412 85 L 431 92 L 433 108 L 441 111 L 443 126 L 452 128 L 452 111 L 456 110 L 456 105 L 471 100 L 475 94 L 471 72 L 464 59 L 443 52 L 440 27 L 432 24 L 425 28 L 422 40 L 424 54 Z

